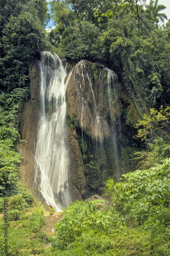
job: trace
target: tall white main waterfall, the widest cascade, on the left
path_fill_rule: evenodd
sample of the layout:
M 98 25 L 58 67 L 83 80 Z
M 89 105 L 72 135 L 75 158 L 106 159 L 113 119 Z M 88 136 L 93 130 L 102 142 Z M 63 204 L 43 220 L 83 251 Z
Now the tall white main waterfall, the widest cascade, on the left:
M 35 151 L 35 181 L 48 205 L 61 211 L 70 203 L 66 147 L 66 72 L 56 54 L 42 52 L 41 113 Z

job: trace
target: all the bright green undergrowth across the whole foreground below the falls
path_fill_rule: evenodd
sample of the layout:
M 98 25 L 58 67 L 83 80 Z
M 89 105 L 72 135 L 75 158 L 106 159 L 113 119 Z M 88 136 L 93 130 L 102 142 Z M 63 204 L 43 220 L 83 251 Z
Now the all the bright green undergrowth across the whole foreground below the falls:
M 109 201 L 71 202 L 56 223 L 55 236 L 44 231 L 44 210 L 36 209 L 24 188 L 9 198 L 9 255 L 84 256 L 170 254 L 170 159 L 154 167 L 105 182 Z M 24 193 L 25 192 L 25 193 Z M 30 214 L 27 214 L 29 210 Z M 0 219 L 0 248 L 4 251 L 4 219 Z M 17 238 L 17 239 L 16 239 Z M 52 247 L 47 246 L 47 243 Z

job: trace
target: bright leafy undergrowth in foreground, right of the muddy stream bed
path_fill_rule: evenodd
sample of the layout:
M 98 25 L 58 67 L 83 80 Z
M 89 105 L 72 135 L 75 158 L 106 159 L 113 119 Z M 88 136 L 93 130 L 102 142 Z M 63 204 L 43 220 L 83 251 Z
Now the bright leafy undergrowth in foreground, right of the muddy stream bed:
M 123 182 L 109 179 L 103 188 L 109 202 L 71 203 L 47 255 L 169 255 L 169 176 L 170 159 L 164 159 Z

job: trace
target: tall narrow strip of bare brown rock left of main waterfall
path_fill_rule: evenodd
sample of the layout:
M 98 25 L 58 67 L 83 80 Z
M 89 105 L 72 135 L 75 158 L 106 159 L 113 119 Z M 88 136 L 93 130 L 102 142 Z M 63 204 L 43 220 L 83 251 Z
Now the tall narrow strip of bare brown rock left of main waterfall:
M 33 63 L 30 80 L 31 80 L 31 100 L 26 104 L 23 113 L 23 125 L 21 131 L 22 143 L 20 164 L 20 176 L 29 188 L 32 188 L 34 183 L 34 167 L 35 167 L 35 145 L 38 127 L 38 112 L 39 112 L 39 95 L 40 95 L 40 70 L 39 63 Z

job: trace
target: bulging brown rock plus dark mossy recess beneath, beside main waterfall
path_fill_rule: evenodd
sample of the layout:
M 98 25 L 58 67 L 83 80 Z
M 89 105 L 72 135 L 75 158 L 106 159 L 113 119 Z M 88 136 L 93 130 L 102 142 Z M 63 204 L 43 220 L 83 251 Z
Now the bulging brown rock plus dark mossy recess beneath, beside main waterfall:
M 99 189 L 118 168 L 120 85 L 103 65 L 80 61 L 66 78 L 68 124 L 78 139 L 86 190 Z

